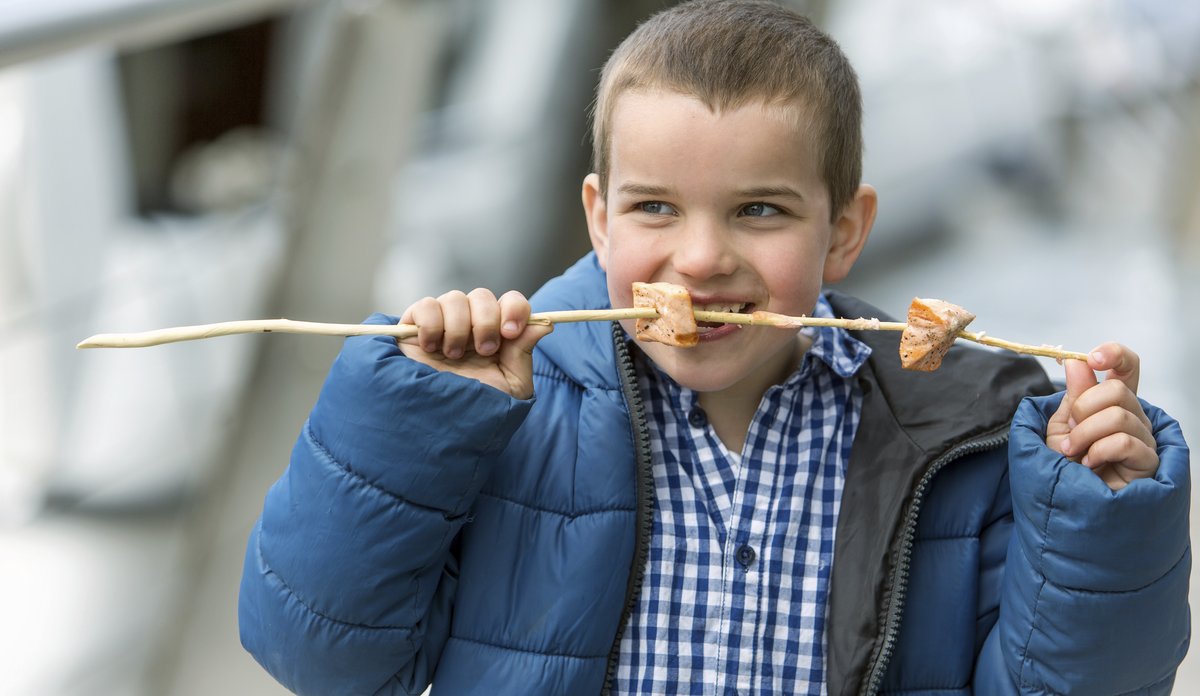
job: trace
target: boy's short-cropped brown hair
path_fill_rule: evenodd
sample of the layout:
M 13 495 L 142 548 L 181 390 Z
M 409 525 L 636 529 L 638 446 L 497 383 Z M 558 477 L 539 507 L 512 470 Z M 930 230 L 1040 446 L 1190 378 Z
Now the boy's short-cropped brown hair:
M 806 17 L 763 0 L 692 0 L 654 14 L 608 58 L 592 113 L 593 167 L 607 191 L 612 113 L 622 92 L 667 89 L 714 112 L 799 103 L 815 121 L 834 218 L 863 175 L 863 101 L 838 44 Z

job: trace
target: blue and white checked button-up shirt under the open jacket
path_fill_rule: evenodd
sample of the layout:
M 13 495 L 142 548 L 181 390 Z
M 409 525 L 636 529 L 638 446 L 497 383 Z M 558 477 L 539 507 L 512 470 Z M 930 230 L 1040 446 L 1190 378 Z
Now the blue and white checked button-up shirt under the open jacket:
M 822 296 L 815 316 L 833 312 Z M 698 395 L 640 360 L 654 529 L 620 643 L 618 694 L 824 694 L 826 611 L 845 467 L 870 354 L 841 329 L 763 395 L 742 452 Z M 635 352 L 640 354 L 640 352 Z

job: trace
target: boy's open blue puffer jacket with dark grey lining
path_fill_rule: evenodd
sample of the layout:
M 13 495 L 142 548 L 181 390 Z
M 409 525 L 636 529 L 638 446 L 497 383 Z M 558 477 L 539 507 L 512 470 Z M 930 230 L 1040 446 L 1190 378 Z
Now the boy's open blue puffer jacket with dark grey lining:
M 607 302 L 590 256 L 534 296 Z M 1044 445 L 1058 397 L 1021 401 L 1050 391 L 1034 361 L 962 348 L 910 373 L 880 334 L 857 335 L 875 352 L 829 694 L 1169 691 L 1189 634 L 1178 425 L 1147 404 L 1158 475 L 1112 493 Z M 632 384 L 616 325 L 542 340 L 535 402 L 349 338 L 251 534 L 242 643 L 301 694 L 607 691 L 653 510 Z

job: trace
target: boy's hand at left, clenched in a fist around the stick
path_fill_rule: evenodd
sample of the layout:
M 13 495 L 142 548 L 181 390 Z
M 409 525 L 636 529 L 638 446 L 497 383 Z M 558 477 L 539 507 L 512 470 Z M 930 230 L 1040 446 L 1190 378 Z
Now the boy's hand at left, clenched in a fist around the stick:
M 533 347 L 553 329 L 529 324 L 529 300 L 516 290 L 499 299 L 486 288 L 425 298 L 401 316 L 402 324 L 416 324 L 418 334 L 401 340 L 400 349 L 434 370 L 529 398 Z

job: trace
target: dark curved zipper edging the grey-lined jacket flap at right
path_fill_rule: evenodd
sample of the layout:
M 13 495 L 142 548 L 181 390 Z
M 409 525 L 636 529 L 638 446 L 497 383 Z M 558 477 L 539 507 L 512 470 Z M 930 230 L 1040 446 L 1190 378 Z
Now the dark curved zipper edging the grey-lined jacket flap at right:
M 944 455 L 934 460 L 934 463 L 925 469 L 924 475 L 922 475 L 920 481 L 913 490 L 912 504 L 908 506 L 908 511 L 905 515 L 904 528 L 900 536 L 900 558 L 895 569 L 892 571 L 890 600 L 884 610 L 883 619 L 883 642 L 880 646 L 880 650 L 875 656 L 874 662 L 866 672 L 868 678 L 863 682 L 863 688 L 859 690 L 862 696 L 875 696 L 875 694 L 878 694 L 880 683 L 883 680 L 883 674 L 887 672 L 888 664 L 892 661 L 892 654 L 895 652 L 896 638 L 900 634 L 900 619 L 904 614 L 905 595 L 908 590 L 908 569 L 912 564 L 912 547 L 913 538 L 917 534 L 917 517 L 920 514 L 920 506 L 925 500 L 925 492 L 929 488 L 930 481 L 932 481 L 937 472 L 942 470 L 942 468 L 950 462 L 966 455 L 997 448 L 1007 442 L 1008 426 L 1004 426 L 1000 431 L 992 431 L 976 439 L 959 443 Z

